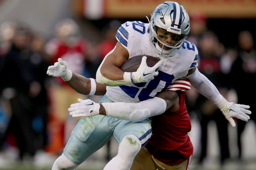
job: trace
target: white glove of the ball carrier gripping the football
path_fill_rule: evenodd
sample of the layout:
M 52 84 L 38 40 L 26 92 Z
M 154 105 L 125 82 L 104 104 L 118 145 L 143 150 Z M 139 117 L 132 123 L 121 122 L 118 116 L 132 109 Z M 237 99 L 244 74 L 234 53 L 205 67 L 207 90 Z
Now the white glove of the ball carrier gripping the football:
M 124 80 L 131 79 L 132 83 L 148 82 L 153 80 L 158 75 L 156 69 L 162 64 L 161 61 L 157 62 L 153 67 L 148 67 L 147 57 L 143 56 L 141 59 L 140 67 L 135 72 L 125 72 Z

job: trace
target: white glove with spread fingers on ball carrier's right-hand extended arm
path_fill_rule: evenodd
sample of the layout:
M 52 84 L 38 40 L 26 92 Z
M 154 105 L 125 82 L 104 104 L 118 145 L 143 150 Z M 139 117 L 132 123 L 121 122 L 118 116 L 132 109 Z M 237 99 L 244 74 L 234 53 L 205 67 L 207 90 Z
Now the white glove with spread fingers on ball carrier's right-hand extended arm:
M 250 110 L 247 110 L 250 106 L 228 102 L 226 99 L 221 101 L 219 108 L 232 127 L 236 127 L 233 117 L 247 122 L 250 119 L 249 115 L 252 113 Z

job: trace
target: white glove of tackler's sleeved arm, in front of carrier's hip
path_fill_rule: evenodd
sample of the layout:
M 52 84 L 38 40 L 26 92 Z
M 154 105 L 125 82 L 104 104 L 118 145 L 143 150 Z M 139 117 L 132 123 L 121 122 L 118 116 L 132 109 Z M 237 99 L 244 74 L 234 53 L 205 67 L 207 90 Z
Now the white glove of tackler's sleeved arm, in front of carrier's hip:
M 100 113 L 100 104 L 95 103 L 94 101 L 87 99 L 82 100 L 78 99 L 79 103 L 71 104 L 68 108 L 69 115 L 72 117 L 91 117 L 99 115 Z

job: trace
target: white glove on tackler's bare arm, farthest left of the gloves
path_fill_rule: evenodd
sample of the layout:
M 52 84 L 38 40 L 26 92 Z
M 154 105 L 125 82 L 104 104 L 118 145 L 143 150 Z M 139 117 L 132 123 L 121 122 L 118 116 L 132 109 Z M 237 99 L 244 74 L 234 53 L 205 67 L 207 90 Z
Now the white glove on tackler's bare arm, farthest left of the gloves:
M 58 58 L 58 62 L 48 67 L 46 72 L 49 76 L 62 77 L 64 81 L 68 81 L 72 77 L 72 71 L 67 68 L 67 63 L 61 58 Z

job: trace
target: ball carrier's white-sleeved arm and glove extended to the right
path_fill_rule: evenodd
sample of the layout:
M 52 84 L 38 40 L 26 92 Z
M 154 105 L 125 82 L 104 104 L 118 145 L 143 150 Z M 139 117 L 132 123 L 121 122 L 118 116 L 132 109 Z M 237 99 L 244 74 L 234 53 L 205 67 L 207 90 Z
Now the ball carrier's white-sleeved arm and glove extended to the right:
M 204 95 L 206 98 L 211 100 L 214 104 L 216 104 L 223 115 L 226 117 L 228 122 L 230 122 L 231 126 L 235 127 L 236 123 L 233 117 L 241 119 L 247 122 L 250 119 L 250 114 L 252 113 L 248 105 L 240 105 L 235 104 L 233 102 L 228 102 L 218 91 L 215 85 L 206 78 L 202 73 L 200 73 L 195 67 L 194 72 L 186 78 L 191 81 L 191 85 L 196 88 L 198 92 Z

